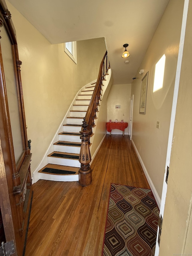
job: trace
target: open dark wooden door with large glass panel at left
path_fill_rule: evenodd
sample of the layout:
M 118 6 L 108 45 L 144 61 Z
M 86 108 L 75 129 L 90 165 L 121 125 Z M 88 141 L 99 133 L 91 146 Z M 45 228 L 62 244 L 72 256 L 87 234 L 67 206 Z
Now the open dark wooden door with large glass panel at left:
M 24 255 L 32 202 L 29 143 L 16 32 L 4 0 L 0 0 L 0 206 L 5 243 Z

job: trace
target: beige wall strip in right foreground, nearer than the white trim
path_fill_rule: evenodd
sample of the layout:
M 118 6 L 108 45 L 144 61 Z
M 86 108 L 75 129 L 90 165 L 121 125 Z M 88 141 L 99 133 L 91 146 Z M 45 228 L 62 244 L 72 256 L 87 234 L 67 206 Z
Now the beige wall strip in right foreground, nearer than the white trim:
M 159 255 L 192 255 L 192 1 L 189 1 Z

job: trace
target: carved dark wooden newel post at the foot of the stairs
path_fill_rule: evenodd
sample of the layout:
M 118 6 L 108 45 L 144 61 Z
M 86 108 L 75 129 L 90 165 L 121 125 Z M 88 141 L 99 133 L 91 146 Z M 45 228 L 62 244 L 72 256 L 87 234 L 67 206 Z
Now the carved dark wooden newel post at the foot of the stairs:
M 81 164 L 79 169 L 79 184 L 81 186 L 88 186 L 92 181 L 92 170 L 89 164 L 91 162 L 91 153 L 89 149 L 90 131 L 87 130 L 87 126 L 88 124 L 84 117 L 82 124 L 83 130 L 79 131 L 81 139 L 81 149 L 79 154 L 79 162 Z

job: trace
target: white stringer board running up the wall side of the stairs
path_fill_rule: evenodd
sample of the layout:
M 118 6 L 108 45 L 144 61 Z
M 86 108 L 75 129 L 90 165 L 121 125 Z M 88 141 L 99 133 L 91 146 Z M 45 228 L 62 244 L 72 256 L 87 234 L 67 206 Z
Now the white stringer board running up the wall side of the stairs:
M 59 135 L 58 135 L 58 134 L 63 131 L 63 125 L 67 122 L 67 116 L 70 116 L 70 110 L 73 110 L 73 104 L 75 103 L 76 99 L 78 98 L 78 94 L 79 94 L 83 89 L 85 89 L 85 87 L 90 86 L 91 84 L 96 83 L 96 82 L 97 82 L 97 79 L 95 79 L 94 81 L 92 81 L 92 82 L 86 84 L 85 86 L 83 86 L 83 87 L 77 92 L 77 94 L 76 94 L 76 96 L 74 97 L 74 99 L 73 99 L 73 101 L 72 101 L 70 107 L 68 108 L 68 110 L 67 110 L 67 112 L 66 112 L 66 114 L 65 114 L 65 116 L 64 116 L 64 118 L 63 118 L 63 120 L 62 120 L 62 122 L 61 122 L 61 124 L 59 125 L 59 127 L 58 127 L 58 129 L 57 129 L 57 131 L 56 131 L 56 133 L 55 133 L 55 136 L 53 137 L 51 143 L 49 144 L 49 147 L 48 147 L 48 149 L 46 150 L 46 152 L 45 152 L 45 154 L 44 154 L 44 156 L 43 156 L 41 162 L 38 164 L 37 168 L 36 168 L 36 169 L 33 171 L 33 173 L 32 173 L 32 183 L 35 183 L 35 182 L 37 182 L 37 181 L 40 179 L 40 173 L 38 173 L 38 170 L 41 170 L 46 164 L 48 164 L 48 157 L 47 157 L 47 155 L 49 155 L 51 152 L 54 151 L 54 145 L 53 145 L 53 144 L 54 144 L 56 141 L 59 140 Z M 91 145 L 91 146 L 92 146 L 92 145 Z M 90 150 L 91 150 L 91 149 L 90 149 Z M 49 175 L 49 174 L 48 174 L 48 175 Z M 47 175 L 47 176 L 48 176 L 48 175 Z M 57 175 L 57 176 L 59 176 L 59 175 Z M 58 178 L 58 177 L 57 177 L 57 178 Z M 48 178 L 47 178 L 47 179 L 48 179 Z M 55 179 L 56 179 L 56 177 L 55 177 Z M 77 179 L 77 180 L 78 180 L 78 179 Z M 59 179 L 59 181 L 62 181 L 61 178 Z M 68 181 L 73 181 L 73 180 L 69 179 Z

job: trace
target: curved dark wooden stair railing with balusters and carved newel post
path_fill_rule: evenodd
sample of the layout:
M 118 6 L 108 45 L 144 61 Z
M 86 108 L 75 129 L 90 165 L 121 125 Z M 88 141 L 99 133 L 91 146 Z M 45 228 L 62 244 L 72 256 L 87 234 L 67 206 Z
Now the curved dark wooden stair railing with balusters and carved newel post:
M 92 127 L 95 126 L 95 118 L 97 117 L 98 106 L 101 100 L 101 90 L 103 86 L 103 80 L 108 75 L 110 68 L 110 62 L 107 61 L 107 51 L 101 61 L 98 79 L 93 91 L 87 112 L 83 118 L 82 129 L 80 131 L 81 149 L 79 154 L 79 162 L 81 167 L 79 169 L 79 184 L 82 186 L 88 186 L 92 181 L 92 170 L 90 167 L 91 154 L 89 149 L 90 135 L 93 134 Z

